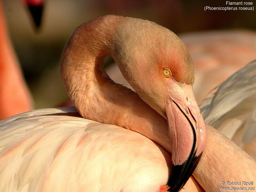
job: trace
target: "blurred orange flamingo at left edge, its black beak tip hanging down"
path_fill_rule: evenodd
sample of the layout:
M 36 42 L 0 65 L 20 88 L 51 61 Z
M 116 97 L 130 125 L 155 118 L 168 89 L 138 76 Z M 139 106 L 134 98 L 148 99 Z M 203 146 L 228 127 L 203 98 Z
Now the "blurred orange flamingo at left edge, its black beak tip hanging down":
M 41 23 L 43 0 L 26 0 L 36 27 Z M 41 11 L 40 11 L 41 10 Z M 0 120 L 30 111 L 33 108 L 31 94 L 25 83 L 20 64 L 12 47 L 5 25 L 0 1 Z

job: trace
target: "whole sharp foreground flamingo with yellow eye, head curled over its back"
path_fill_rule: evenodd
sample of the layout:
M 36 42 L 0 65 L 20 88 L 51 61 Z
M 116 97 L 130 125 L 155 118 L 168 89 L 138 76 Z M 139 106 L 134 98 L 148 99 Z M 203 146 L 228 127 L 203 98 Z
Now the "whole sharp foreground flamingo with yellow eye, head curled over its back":
M 107 27 L 113 30 L 107 31 Z M 161 54 L 157 54 L 156 45 Z M 138 94 L 109 79 L 100 66 L 106 54 L 112 54 Z M 61 108 L 32 111 L 2 121 L 1 190 L 159 191 L 161 185 L 162 191 L 182 188 L 206 142 L 206 128 L 192 92 L 193 68 L 189 62 L 190 56 L 179 38 L 149 21 L 104 16 L 77 28 L 63 52 L 60 71 L 77 111 L 91 120 L 77 117 L 74 108 Z M 158 66 L 161 70 L 157 70 Z M 175 130 L 177 127 L 180 130 Z M 217 131 L 209 126 L 207 129 L 207 147 L 194 172 L 203 188 L 217 191 L 217 181 L 222 179 L 255 178 L 255 162 Z M 188 135 L 194 138 L 186 138 Z M 186 158 L 191 157 L 186 154 L 191 154 L 189 142 L 193 140 L 197 145 L 194 156 L 198 158 L 192 158 L 196 162 L 187 165 Z M 224 149 L 237 153 L 227 155 Z M 233 162 L 234 158 L 238 161 Z M 234 174 L 222 173 L 218 178 L 210 174 L 210 170 L 218 173 L 227 162 Z M 170 189 L 163 186 L 168 180 L 167 164 L 172 172 Z M 241 164 L 248 170 L 246 174 L 238 174 Z M 179 169 L 182 166 L 185 170 Z M 61 174 L 63 169 L 69 174 Z M 160 172 L 156 174 L 155 170 Z M 117 176 L 121 177 L 119 182 L 114 180 Z

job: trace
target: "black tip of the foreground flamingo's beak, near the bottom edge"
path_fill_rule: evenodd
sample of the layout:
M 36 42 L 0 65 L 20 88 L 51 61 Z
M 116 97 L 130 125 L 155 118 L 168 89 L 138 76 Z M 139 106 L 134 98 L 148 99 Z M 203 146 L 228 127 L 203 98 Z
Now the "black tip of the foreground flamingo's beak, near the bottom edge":
M 181 165 L 172 164 L 172 174 L 167 183 L 167 185 L 170 186 L 170 189 L 168 189 L 168 191 L 177 192 L 183 188 L 183 186 L 188 181 L 189 177 L 192 175 L 192 173 L 196 169 L 196 166 L 201 156 L 202 156 L 202 153 L 199 156 L 195 156 L 193 158 L 193 161 L 189 162 L 188 160 L 186 160 Z

